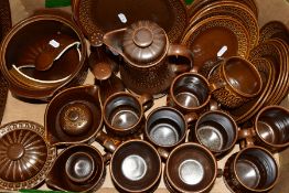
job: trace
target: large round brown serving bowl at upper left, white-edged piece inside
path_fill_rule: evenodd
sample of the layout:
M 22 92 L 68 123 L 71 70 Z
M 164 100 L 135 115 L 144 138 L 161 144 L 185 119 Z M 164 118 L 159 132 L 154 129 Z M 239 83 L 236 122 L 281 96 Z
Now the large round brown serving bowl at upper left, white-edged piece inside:
M 58 41 L 62 47 L 63 36 L 77 42 L 77 46 L 63 52 L 49 69 L 36 69 L 39 56 L 51 51 L 51 41 Z M 49 100 L 60 88 L 82 84 L 87 74 L 84 35 L 71 20 L 61 15 L 41 14 L 22 20 L 6 35 L 0 52 L 1 72 L 19 98 Z M 25 65 L 32 67 L 21 68 Z

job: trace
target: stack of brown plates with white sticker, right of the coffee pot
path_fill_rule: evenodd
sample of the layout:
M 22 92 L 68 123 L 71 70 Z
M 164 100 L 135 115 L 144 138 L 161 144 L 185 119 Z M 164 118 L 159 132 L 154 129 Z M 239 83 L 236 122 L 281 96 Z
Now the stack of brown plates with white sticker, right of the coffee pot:
M 218 57 L 247 58 L 249 51 L 257 45 L 257 17 L 248 2 L 244 2 L 204 0 L 191 6 L 193 14 L 181 43 L 192 50 L 196 72 Z

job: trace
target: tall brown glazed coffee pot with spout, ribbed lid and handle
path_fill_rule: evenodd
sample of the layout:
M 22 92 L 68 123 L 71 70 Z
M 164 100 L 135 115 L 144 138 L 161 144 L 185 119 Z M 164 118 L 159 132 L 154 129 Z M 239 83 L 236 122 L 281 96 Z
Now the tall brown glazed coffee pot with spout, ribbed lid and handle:
M 176 74 L 192 67 L 192 52 L 183 45 L 170 44 L 164 30 L 151 21 L 108 32 L 104 43 L 124 57 L 120 76 L 136 94 L 162 94 Z

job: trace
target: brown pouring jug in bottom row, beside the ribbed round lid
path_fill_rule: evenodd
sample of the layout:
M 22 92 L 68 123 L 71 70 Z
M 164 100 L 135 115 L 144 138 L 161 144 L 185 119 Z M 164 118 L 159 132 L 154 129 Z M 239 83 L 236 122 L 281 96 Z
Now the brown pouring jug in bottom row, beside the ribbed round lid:
M 45 182 L 49 187 L 61 191 L 97 191 L 105 181 L 110 157 L 110 153 L 101 156 L 92 146 L 74 144 L 58 154 Z

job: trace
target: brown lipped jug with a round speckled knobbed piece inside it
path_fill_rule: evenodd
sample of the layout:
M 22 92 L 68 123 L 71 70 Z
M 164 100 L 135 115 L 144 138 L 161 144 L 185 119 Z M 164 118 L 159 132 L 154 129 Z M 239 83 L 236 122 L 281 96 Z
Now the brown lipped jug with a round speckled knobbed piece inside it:
M 89 142 L 101 126 L 101 105 L 96 86 L 65 89 L 46 107 L 45 129 L 50 144 Z

